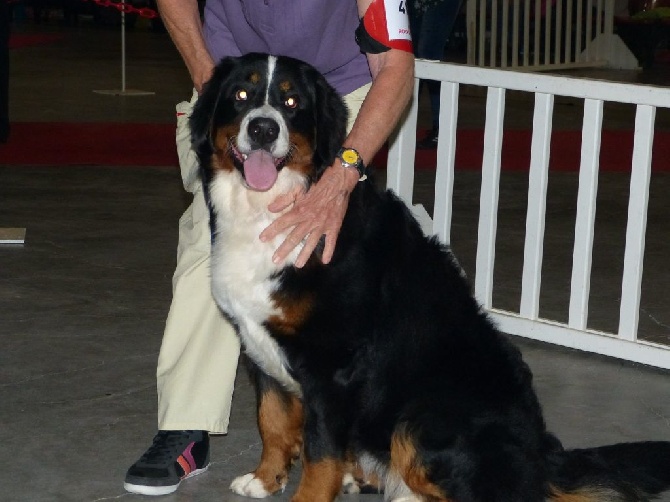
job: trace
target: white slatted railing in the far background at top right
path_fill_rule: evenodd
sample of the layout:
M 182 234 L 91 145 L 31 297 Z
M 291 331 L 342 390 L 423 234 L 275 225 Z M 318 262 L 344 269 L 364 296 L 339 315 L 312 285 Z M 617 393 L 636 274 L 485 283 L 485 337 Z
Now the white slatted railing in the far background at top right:
M 468 64 L 552 70 L 635 68 L 614 34 L 615 0 L 468 0 Z

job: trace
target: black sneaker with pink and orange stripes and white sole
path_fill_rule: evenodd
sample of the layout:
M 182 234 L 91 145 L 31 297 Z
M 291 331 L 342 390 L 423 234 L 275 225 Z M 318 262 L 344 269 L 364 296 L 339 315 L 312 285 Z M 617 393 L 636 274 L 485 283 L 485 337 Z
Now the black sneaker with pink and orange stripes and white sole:
M 205 431 L 158 431 L 153 444 L 130 466 L 123 487 L 141 495 L 167 495 L 209 467 Z

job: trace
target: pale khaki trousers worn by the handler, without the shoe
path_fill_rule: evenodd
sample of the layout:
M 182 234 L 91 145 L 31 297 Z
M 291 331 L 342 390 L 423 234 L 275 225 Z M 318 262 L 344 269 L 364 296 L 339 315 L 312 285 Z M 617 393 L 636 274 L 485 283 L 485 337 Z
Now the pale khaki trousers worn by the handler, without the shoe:
M 369 87 L 345 96 L 348 130 Z M 172 304 L 158 356 L 158 429 L 222 434 L 228 431 L 240 342 L 211 295 L 209 211 L 188 125 L 197 97 L 194 92 L 190 102 L 177 105 L 179 167 L 193 202 L 179 220 Z

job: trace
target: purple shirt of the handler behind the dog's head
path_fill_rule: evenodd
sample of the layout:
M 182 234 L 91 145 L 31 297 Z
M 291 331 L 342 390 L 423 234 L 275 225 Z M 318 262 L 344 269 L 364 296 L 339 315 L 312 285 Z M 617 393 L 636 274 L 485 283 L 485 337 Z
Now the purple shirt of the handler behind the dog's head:
M 372 80 L 358 23 L 356 0 L 208 0 L 204 32 L 214 61 L 248 52 L 294 57 L 345 95 Z

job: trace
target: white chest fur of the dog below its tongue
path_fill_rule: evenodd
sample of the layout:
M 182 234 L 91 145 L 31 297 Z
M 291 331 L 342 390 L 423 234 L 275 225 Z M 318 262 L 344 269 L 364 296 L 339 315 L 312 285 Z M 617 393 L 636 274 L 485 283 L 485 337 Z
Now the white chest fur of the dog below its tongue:
M 259 239 L 277 217 L 267 210 L 267 205 L 301 181 L 296 178 L 297 174 L 284 170 L 271 190 L 254 192 L 243 187 L 239 173 L 218 172 L 210 186 L 210 197 L 216 213 L 212 248 L 214 299 L 237 323 L 247 355 L 287 390 L 300 395 L 300 386 L 288 372 L 281 347 L 264 327 L 270 316 L 278 314 L 271 299 L 278 287 L 273 276 L 287 263 L 293 263 L 299 249 L 277 266 L 272 255 L 284 236 L 271 242 Z

